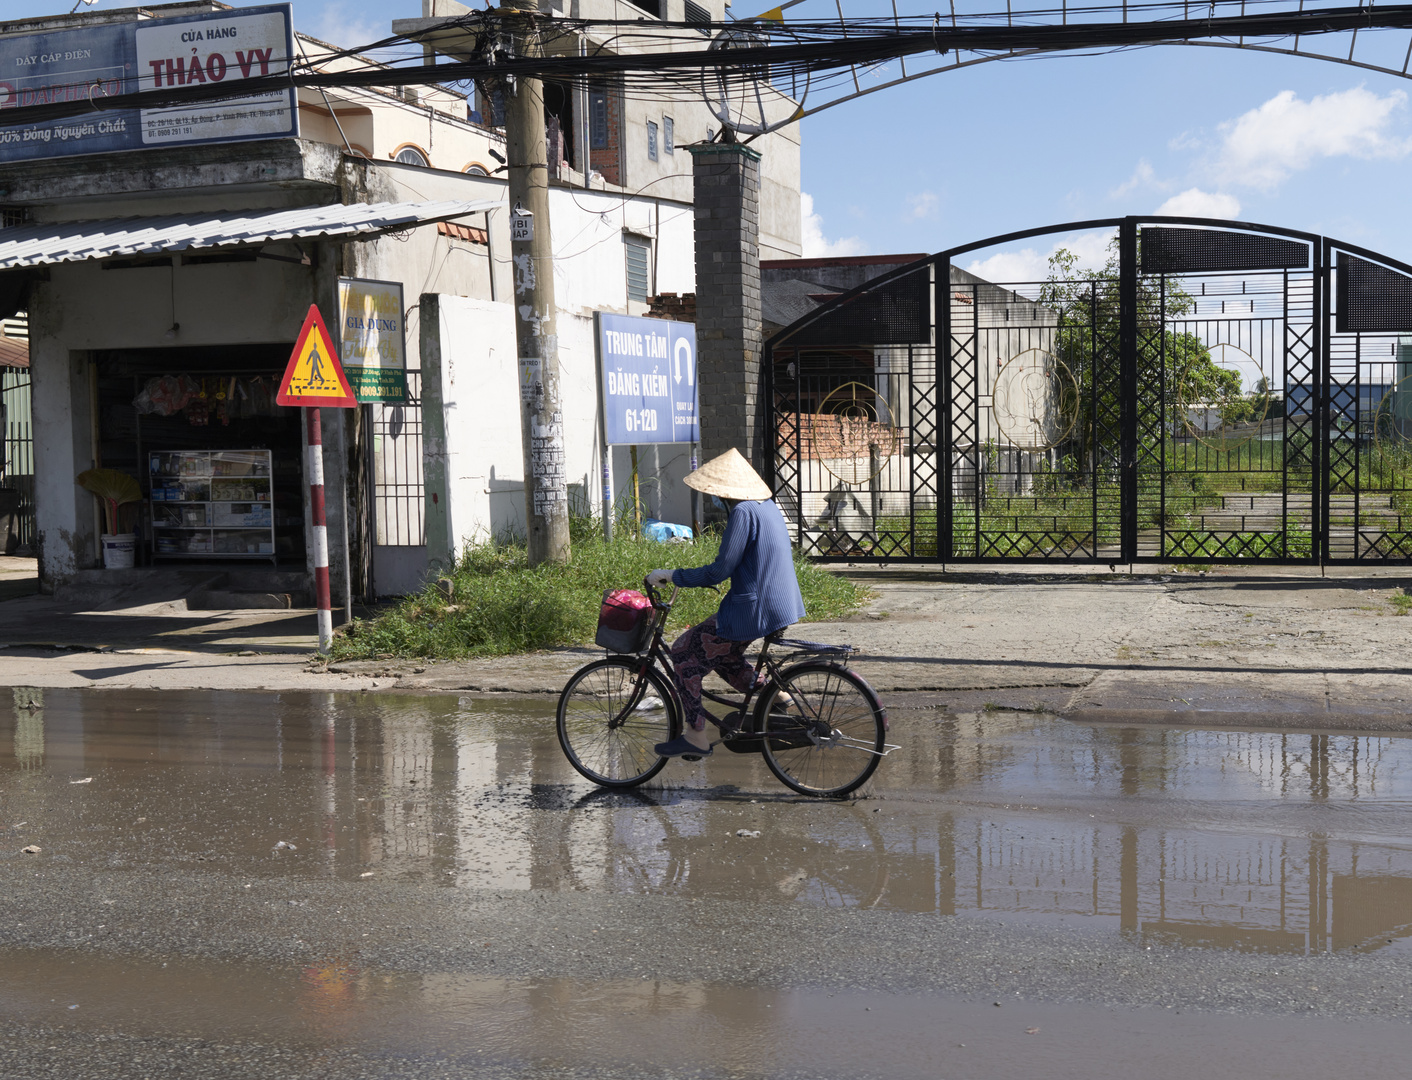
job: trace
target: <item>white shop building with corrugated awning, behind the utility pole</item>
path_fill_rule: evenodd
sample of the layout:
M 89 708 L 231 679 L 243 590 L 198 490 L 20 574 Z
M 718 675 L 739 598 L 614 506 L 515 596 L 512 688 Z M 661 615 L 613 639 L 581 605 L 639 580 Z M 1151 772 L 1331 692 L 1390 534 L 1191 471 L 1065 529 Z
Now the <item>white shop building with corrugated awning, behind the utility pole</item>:
M 0 23 L 0 52 L 37 34 L 250 11 L 201 0 Z M 304 428 L 270 402 L 309 305 L 335 312 L 340 278 L 401 285 L 407 397 L 325 411 L 336 604 L 417 587 L 429 558 L 522 521 L 518 397 L 503 378 L 514 364 L 505 181 L 487 175 L 503 133 L 449 92 L 288 93 L 297 120 L 284 134 L 56 157 L 0 144 L 0 316 L 28 312 L 44 589 L 102 566 L 97 503 L 75 483 L 90 467 L 141 484 L 123 522 L 141 568 L 308 575 Z M 648 294 L 690 291 L 692 209 L 623 192 L 592 167 L 554 179 L 551 208 L 575 388 L 569 477 L 599 511 L 593 312 L 645 313 Z M 446 438 L 424 446 L 424 431 Z M 664 490 L 686 472 L 678 456 L 647 466 L 661 466 Z M 446 490 L 429 487 L 432 472 Z

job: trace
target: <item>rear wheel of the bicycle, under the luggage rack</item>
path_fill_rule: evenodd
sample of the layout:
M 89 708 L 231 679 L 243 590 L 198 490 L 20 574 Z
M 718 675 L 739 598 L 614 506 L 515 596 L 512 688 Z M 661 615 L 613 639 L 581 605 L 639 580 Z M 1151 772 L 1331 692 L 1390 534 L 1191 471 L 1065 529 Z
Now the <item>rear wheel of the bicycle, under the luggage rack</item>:
M 882 761 L 887 717 L 873 688 L 837 664 L 809 661 L 779 673 L 755 707 L 770 771 L 801 795 L 842 798 Z

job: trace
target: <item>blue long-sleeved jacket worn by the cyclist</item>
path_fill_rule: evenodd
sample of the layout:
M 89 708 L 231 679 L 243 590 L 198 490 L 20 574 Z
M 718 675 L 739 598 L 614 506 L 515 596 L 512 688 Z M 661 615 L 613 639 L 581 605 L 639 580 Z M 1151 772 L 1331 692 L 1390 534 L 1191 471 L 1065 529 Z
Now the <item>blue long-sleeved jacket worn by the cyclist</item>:
M 730 592 L 716 611 L 717 635 L 754 641 L 803 618 L 789 532 L 772 498 L 736 504 L 710 566 L 672 572 L 672 582 L 683 589 L 719 584 L 727 577 Z

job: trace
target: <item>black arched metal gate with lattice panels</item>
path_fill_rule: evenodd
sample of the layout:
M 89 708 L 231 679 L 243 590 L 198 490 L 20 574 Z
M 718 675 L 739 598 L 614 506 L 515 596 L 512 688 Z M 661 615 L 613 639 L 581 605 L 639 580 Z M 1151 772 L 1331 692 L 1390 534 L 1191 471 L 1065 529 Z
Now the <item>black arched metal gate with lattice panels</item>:
M 1101 271 L 964 256 L 1113 230 Z M 1124 217 L 942 251 L 765 346 L 777 498 L 819 559 L 1412 560 L 1412 267 Z

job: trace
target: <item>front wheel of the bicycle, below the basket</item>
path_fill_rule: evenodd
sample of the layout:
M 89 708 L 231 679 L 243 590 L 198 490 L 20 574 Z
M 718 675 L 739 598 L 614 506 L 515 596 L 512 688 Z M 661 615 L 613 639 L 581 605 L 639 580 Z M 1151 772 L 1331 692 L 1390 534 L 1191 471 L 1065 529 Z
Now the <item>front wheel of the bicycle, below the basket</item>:
M 604 788 L 635 788 L 666 764 L 652 748 L 681 734 L 666 679 L 641 661 L 610 656 L 575 672 L 559 695 L 555 727 L 563 754 Z

